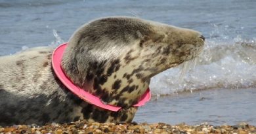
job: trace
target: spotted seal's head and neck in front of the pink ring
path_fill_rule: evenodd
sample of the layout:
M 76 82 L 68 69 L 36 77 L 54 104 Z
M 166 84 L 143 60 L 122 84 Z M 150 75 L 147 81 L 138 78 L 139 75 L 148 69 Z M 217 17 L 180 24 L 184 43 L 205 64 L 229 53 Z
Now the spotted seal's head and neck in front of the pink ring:
M 131 107 L 150 78 L 202 51 L 198 31 L 131 17 L 100 18 L 70 38 L 62 68 L 80 88 L 108 105 Z

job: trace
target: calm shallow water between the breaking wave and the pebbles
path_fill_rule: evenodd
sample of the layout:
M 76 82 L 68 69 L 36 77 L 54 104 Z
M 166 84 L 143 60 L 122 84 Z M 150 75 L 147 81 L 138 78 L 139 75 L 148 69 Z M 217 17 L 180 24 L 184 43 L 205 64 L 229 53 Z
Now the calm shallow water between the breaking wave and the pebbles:
M 256 126 L 256 88 L 208 89 L 152 97 L 139 107 L 133 121 L 188 125 L 208 122 L 215 126 L 246 122 Z

